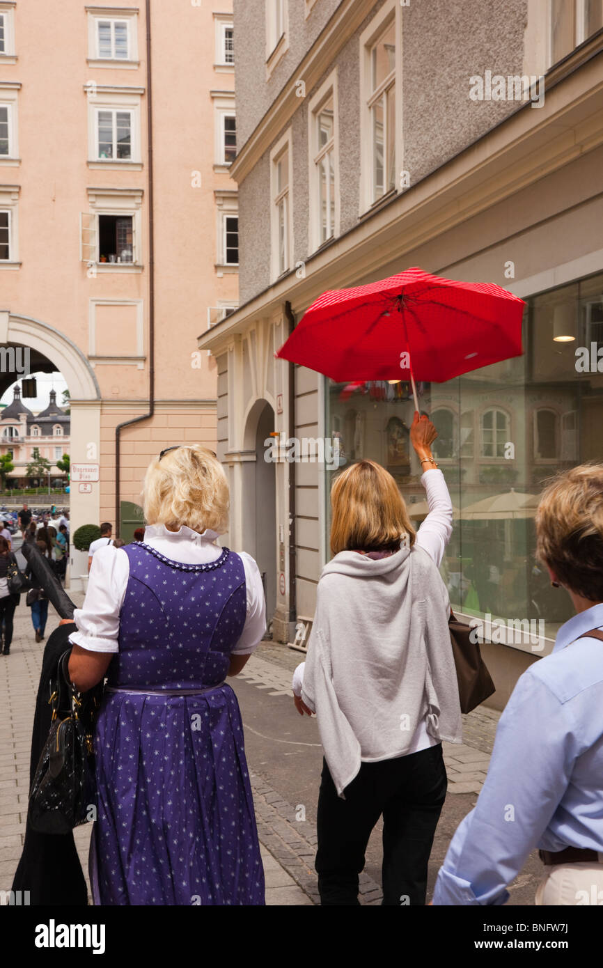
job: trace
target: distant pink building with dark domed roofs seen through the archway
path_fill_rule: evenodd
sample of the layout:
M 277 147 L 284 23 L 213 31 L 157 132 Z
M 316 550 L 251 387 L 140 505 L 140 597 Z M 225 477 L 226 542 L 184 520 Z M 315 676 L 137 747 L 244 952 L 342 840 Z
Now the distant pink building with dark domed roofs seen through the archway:
M 47 475 L 27 475 L 27 465 L 34 460 L 37 447 L 40 456 L 50 464 L 50 485 L 63 487 L 67 474 L 56 462 L 70 452 L 71 417 L 56 402 L 55 390 L 50 390 L 50 402 L 40 413 L 34 413 L 21 399 L 21 388 L 15 383 L 13 402 L 0 409 L 0 455 L 10 453 L 15 469 L 7 474 L 9 488 L 45 487 Z

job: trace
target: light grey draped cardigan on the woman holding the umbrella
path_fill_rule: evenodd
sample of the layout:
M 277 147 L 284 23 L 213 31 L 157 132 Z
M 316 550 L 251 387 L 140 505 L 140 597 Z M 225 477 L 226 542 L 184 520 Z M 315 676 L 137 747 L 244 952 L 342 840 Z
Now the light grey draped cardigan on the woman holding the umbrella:
M 380 560 L 340 552 L 323 568 L 302 699 L 340 797 L 361 761 L 405 755 L 422 721 L 436 740 L 462 742 L 449 608 L 416 545 Z

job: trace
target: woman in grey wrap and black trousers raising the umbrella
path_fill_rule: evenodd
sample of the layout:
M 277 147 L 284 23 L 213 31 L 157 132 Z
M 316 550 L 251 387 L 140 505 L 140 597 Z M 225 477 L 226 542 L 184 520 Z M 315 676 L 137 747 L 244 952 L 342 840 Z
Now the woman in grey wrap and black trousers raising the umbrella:
M 383 817 L 383 904 L 423 905 L 446 795 L 441 741 L 462 741 L 437 570 L 452 532 L 452 503 L 415 412 L 410 439 L 429 514 L 415 534 L 394 478 L 360 461 L 331 490 L 331 550 L 322 570 L 305 663 L 293 677 L 299 712 L 317 713 L 324 749 L 317 808 L 323 905 L 358 904 L 358 874 Z

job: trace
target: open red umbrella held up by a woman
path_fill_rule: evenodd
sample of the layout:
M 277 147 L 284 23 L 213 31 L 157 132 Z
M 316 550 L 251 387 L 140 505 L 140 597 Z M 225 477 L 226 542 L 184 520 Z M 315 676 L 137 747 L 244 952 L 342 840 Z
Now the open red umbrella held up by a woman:
M 524 300 L 492 283 L 407 269 L 323 292 L 276 353 L 337 382 L 437 383 L 521 356 Z

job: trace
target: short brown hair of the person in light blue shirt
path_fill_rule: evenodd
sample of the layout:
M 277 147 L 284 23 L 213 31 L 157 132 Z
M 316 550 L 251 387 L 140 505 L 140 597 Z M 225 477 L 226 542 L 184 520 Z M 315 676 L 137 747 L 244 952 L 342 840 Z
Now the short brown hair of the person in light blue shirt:
M 536 512 L 536 555 L 561 585 L 603 601 L 603 464 L 565 470 Z

